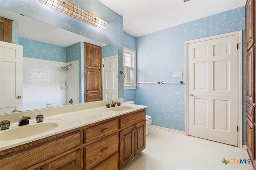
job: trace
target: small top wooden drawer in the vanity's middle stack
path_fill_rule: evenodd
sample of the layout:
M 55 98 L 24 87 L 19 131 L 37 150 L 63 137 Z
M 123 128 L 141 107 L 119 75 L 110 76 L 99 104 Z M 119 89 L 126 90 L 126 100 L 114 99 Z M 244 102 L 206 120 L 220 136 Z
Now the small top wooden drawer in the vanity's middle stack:
M 118 130 L 118 119 L 103 123 L 84 130 L 84 142 L 89 142 L 99 137 Z

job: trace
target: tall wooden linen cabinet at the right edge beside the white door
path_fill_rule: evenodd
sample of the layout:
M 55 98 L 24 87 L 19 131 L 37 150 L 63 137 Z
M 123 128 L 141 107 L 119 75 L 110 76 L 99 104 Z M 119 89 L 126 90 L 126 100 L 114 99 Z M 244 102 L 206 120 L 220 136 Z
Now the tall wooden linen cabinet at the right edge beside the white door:
M 246 2 L 246 145 L 254 169 L 256 169 L 256 3 Z

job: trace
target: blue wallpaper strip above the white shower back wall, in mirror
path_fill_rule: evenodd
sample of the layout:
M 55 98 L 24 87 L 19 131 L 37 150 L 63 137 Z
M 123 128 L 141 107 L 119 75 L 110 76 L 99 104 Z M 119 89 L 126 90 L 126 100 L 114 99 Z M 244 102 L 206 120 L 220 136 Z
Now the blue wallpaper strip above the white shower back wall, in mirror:
M 23 57 L 66 63 L 66 47 L 24 37 L 19 37 L 19 45 L 23 45 Z

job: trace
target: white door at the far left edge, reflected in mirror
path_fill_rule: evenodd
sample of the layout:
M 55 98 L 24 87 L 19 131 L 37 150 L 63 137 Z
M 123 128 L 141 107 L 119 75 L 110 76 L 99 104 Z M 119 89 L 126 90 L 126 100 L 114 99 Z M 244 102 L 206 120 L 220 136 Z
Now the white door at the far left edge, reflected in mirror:
M 0 41 L 0 113 L 22 110 L 23 47 Z

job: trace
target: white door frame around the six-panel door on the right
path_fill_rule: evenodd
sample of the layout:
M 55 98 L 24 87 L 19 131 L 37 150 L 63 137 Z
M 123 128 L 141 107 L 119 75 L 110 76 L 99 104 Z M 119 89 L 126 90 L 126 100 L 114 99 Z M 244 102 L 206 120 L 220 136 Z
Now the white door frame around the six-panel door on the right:
M 238 91 L 238 106 L 237 106 L 237 125 L 238 125 L 238 138 L 237 138 L 237 147 L 242 148 L 242 31 L 235 31 L 231 33 L 225 33 L 225 34 L 220 34 L 220 35 L 214 35 L 210 37 L 205 37 L 205 38 L 200 38 L 200 39 L 194 39 L 190 41 L 185 42 L 185 60 L 186 60 L 186 65 L 185 65 L 185 73 L 186 73 L 186 89 L 185 89 L 185 135 L 188 135 L 188 44 L 190 43 L 195 43 L 198 41 L 207 41 L 210 39 L 216 39 L 216 38 L 221 38 L 221 37 L 227 37 L 227 36 L 233 36 L 237 35 L 238 39 L 238 74 L 237 74 L 237 91 Z

